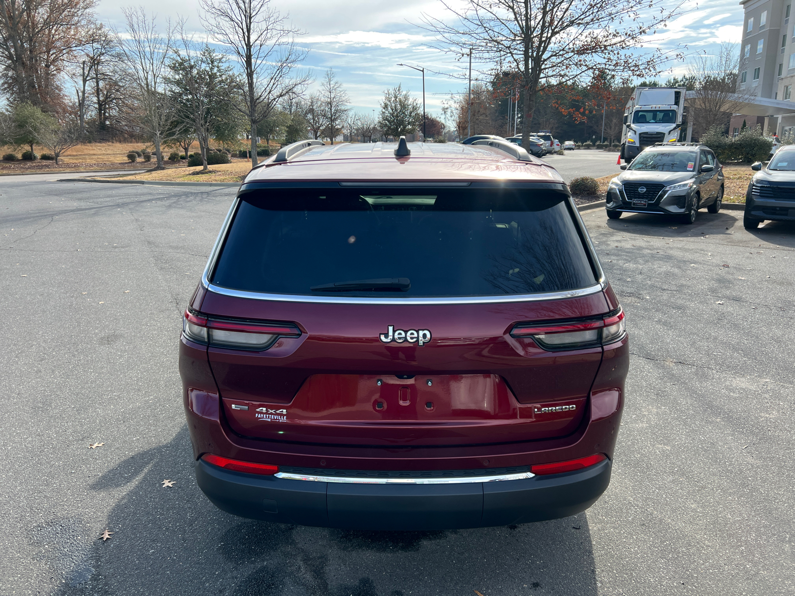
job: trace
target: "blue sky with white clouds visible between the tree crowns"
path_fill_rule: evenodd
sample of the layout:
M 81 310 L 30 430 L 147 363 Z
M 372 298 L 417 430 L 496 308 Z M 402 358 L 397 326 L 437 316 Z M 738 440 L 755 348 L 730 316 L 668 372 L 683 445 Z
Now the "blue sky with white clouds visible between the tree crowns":
M 158 17 L 188 17 L 188 27 L 201 29 L 196 0 L 140 2 L 145 10 Z M 310 48 L 306 68 L 317 79 L 333 68 L 345 85 L 355 110 L 378 111 L 383 90 L 402 83 L 421 99 L 422 80 L 419 72 L 399 67 L 403 62 L 429 70 L 464 75 L 466 64 L 458 63 L 441 52 L 429 48 L 430 34 L 413 23 L 421 13 L 442 15 L 436 0 L 293 0 L 275 2 L 278 10 L 290 15 L 293 24 L 306 34 L 299 43 Z M 743 10 L 737 0 L 688 2 L 687 13 L 669 23 L 646 42 L 648 48 L 671 49 L 687 45 L 686 53 L 712 52 L 722 41 L 739 41 Z M 118 1 L 100 0 L 100 20 L 107 25 L 122 25 Z M 686 64 L 677 64 L 673 73 L 684 72 Z M 661 79 L 665 79 L 662 75 Z M 466 82 L 444 75 L 426 73 L 425 95 L 429 113 L 440 116 L 442 101 L 451 92 L 465 91 Z

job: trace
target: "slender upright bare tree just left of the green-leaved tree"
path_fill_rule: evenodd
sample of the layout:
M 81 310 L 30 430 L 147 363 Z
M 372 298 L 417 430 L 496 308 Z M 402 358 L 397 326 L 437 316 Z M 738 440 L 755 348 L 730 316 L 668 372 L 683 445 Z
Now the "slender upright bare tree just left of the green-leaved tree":
M 122 8 L 126 36 L 116 34 L 116 43 L 127 67 L 127 76 L 134 83 L 138 112 L 134 119 L 152 139 L 156 169 L 165 169 L 163 142 L 169 136 L 172 106 L 166 90 L 167 61 L 173 49 L 174 29 L 166 21 L 165 35 L 157 31 L 155 17 L 147 17 L 143 8 Z

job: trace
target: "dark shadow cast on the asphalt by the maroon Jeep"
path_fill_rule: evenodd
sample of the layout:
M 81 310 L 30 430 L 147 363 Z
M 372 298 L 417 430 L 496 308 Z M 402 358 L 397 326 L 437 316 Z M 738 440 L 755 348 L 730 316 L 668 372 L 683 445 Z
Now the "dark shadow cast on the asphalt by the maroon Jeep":
M 174 486 L 164 487 L 170 479 Z M 89 487 L 117 499 L 84 581 L 57 594 L 595 596 L 585 513 L 500 528 L 357 532 L 246 520 L 196 485 L 186 427 Z M 118 494 L 118 496 L 116 496 Z M 105 496 L 107 498 L 107 495 Z M 93 528 L 99 536 L 105 527 Z M 86 561 L 81 563 L 86 567 Z

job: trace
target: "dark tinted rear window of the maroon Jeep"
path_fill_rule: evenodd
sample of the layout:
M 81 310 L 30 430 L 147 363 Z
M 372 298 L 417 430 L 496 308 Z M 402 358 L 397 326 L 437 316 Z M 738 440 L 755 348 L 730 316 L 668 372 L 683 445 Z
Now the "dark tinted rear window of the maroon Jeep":
M 242 195 L 212 282 L 399 299 L 554 292 L 596 279 L 560 192 L 274 189 Z

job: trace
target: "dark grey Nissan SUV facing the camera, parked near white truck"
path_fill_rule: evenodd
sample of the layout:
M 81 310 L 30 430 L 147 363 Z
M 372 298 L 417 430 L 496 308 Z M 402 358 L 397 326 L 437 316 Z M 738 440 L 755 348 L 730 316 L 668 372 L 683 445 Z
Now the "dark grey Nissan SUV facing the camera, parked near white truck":
M 720 211 L 723 167 L 697 143 L 657 143 L 635 157 L 607 188 L 607 217 L 622 213 L 677 215 L 693 223 L 701 207 Z

